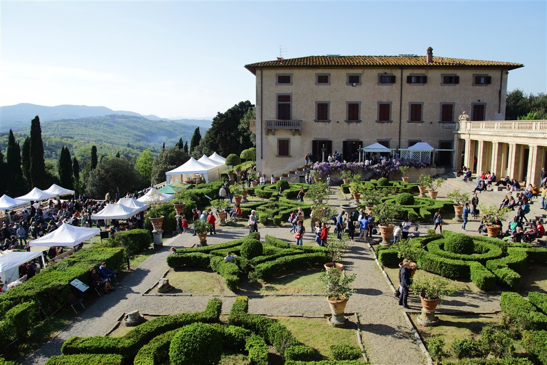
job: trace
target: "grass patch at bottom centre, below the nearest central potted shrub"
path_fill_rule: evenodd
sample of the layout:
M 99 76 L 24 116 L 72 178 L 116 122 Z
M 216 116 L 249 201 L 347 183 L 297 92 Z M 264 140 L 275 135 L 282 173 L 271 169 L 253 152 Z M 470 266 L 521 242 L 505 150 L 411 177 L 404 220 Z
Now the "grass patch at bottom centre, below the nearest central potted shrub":
M 330 357 L 330 345 L 353 345 L 357 343 L 357 323 L 350 317 L 346 328 L 331 327 L 327 318 L 273 317 L 287 326 L 293 336 L 300 342 L 317 351 L 314 360 Z

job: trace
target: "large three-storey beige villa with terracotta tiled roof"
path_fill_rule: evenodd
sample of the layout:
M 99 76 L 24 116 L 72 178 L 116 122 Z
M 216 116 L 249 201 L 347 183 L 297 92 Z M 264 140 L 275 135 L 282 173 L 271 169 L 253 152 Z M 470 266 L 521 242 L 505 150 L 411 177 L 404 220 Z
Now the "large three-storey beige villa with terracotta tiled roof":
M 251 63 L 245 67 L 256 77 L 251 129 L 257 135 L 257 167 L 279 174 L 303 165 L 307 153 L 320 160 L 324 148 L 348 159 L 376 142 L 396 150 L 427 142 L 437 149 L 435 164 L 459 167 L 459 157 L 466 149 L 474 153 L 475 143 L 458 142 L 472 140 L 455 137 L 458 116 L 504 120 L 508 72 L 522 66 L 438 57 L 432 48 L 425 56 L 326 55 Z M 476 146 L 486 151 L 484 144 Z M 512 156 L 519 153 L 524 151 L 515 149 Z M 536 160 L 543 163 L 543 155 Z

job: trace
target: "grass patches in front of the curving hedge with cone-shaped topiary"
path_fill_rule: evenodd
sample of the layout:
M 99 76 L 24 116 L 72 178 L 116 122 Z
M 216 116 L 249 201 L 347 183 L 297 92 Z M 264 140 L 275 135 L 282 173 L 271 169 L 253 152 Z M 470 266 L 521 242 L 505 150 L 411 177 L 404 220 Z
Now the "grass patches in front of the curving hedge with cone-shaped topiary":
M 319 281 L 321 270 L 287 270 L 269 282 L 249 282 L 245 277 L 240 281 L 241 291 L 245 294 L 297 294 L 322 293 L 323 285 Z M 175 289 L 169 294 L 234 294 L 226 287 L 224 279 L 212 270 L 170 269 L 167 274 L 169 283 Z M 154 289 L 153 293 L 157 293 Z

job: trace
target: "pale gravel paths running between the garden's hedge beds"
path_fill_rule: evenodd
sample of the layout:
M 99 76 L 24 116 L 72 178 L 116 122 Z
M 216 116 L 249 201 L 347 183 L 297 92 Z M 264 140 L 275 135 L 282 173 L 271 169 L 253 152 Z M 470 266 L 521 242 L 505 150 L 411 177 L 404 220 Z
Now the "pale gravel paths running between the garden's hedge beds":
M 462 188 L 471 190 L 474 183 L 465 184 L 458 178 L 450 178 L 439 189 L 439 198 L 443 199 L 453 189 Z M 488 192 L 480 194 L 479 198 L 486 204 L 498 204 L 504 192 Z M 348 197 L 349 198 L 349 197 Z M 331 192 L 329 204 L 339 206 L 345 204 L 348 199 L 335 187 Z M 531 206 L 530 216 L 542 216 L 539 204 Z M 451 218 L 451 217 L 445 217 Z M 445 229 L 459 230 L 461 224 L 445 219 Z M 478 222 L 468 223 L 468 233 L 478 234 Z M 260 233 L 275 235 L 281 239 L 293 241 L 292 234 L 287 229 L 278 227 L 260 227 Z M 309 227 L 309 221 L 305 222 Z M 432 224 L 421 224 L 420 231 L 426 233 L 433 228 Z M 246 228 L 217 227 L 217 235 L 208 236 L 208 244 L 218 244 L 226 240 L 232 240 L 247 234 Z M 312 241 L 315 235 L 306 234 L 306 238 Z M 62 343 L 73 335 L 89 336 L 102 335 L 109 331 L 123 312 L 138 309 L 142 313 L 177 314 L 180 312 L 200 311 L 205 308 L 211 296 L 196 297 L 155 297 L 142 296 L 147 289 L 154 286 L 155 282 L 165 273 L 168 266 L 165 259 L 168 248 L 190 247 L 197 240 L 191 234 L 181 234 L 171 239 L 164 240 L 165 247 L 158 253 L 150 256 L 128 275 L 117 291 L 103 296 L 94 304 L 82 311 L 74 322 L 63 329 L 55 338 L 51 339 L 40 349 L 27 357 L 25 364 L 43 364 L 50 356 L 60 355 Z M 376 239 L 373 244 L 377 243 Z M 347 304 L 346 312 L 358 312 L 362 323 L 363 343 L 371 363 L 374 364 L 419 364 L 426 363 L 421 350 L 418 348 L 411 329 L 406 324 L 403 311 L 393 298 L 392 290 L 386 283 L 382 271 L 377 266 L 374 254 L 369 250 L 368 244 L 356 243 L 344 259 L 348 271 L 357 273 L 354 287 L 357 293 L 352 296 Z M 222 297 L 223 313 L 228 313 L 234 301 L 234 297 Z M 419 312 L 421 305 L 419 298 L 409 298 L 411 312 Z M 67 309 L 68 310 L 68 309 Z M 439 307 L 439 312 L 469 311 L 490 312 L 499 310 L 499 294 L 482 294 L 470 292 L 458 292 L 453 297 L 445 298 Z M 267 315 L 323 315 L 330 312 L 328 304 L 321 296 L 284 296 L 263 297 L 249 299 L 249 311 Z M 408 362 L 401 359 L 410 359 Z

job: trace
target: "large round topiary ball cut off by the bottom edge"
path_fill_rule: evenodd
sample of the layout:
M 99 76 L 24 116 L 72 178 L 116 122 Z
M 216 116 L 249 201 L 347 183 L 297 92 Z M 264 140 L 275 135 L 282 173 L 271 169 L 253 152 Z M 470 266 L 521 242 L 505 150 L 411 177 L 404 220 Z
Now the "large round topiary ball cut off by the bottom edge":
M 171 340 L 172 365 L 213 365 L 222 355 L 222 335 L 207 323 L 184 326 Z

